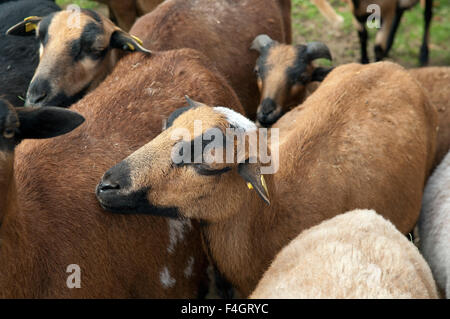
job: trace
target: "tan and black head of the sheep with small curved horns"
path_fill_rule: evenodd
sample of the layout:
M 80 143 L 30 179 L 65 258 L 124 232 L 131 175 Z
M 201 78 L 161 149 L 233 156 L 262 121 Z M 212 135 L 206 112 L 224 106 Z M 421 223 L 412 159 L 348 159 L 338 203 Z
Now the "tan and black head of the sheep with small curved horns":
M 321 42 L 293 46 L 259 35 L 251 48 L 260 53 L 255 73 L 261 92 L 257 120 L 263 126 L 272 125 L 302 103 L 306 98 L 306 86 L 312 81 L 322 81 L 331 71 L 331 68 L 312 64 L 319 58 L 331 60 L 328 47 Z

